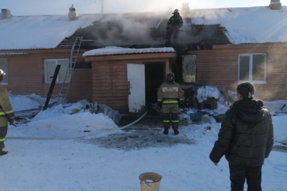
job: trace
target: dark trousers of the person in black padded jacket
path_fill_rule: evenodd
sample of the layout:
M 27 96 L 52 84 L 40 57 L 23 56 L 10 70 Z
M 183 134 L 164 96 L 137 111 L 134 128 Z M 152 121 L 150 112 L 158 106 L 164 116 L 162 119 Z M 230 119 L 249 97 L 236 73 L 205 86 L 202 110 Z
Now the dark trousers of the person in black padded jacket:
M 247 191 L 262 191 L 261 169 L 262 166 L 242 167 L 229 163 L 231 191 L 243 191 L 245 178 L 247 182 Z

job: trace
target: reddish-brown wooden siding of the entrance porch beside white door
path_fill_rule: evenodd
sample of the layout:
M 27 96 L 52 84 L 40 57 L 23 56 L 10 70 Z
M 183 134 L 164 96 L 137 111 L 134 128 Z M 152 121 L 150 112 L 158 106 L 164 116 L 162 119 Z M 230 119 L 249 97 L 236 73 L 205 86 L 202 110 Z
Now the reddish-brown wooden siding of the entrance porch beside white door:
M 136 60 L 137 55 L 127 55 L 126 60 L 100 60 L 92 61 L 93 70 L 93 102 L 106 104 L 121 113 L 127 113 L 128 88 L 127 88 L 127 64 L 143 64 L 150 62 L 165 62 L 168 66 L 168 58 Z M 128 59 L 128 58 L 132 59 Z M 88 58 L 88 57 L 87 57 Z M 95 57 L 96 59 L 97 57 Z M 106 58 L 106 57 L 104 57 Z M 90 59 L 90 58 L 88 58 Z M 166 69 L 168 71 L 168 69 Z

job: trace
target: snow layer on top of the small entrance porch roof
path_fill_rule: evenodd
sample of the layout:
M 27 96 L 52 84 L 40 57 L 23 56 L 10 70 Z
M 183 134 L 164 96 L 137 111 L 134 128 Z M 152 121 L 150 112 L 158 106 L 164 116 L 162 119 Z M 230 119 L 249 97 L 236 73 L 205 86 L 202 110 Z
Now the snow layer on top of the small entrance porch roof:
M 171 47 L 164 48 L 122 48 L 116 46 L 108 46 L 105 48 L 99 48 L 87 51 L 83 56 L 102 56 L 102 55 L 115 55 L 115 54 L 144 54 L 144 53 L 160 53 L 160 52 L 174 52 Z

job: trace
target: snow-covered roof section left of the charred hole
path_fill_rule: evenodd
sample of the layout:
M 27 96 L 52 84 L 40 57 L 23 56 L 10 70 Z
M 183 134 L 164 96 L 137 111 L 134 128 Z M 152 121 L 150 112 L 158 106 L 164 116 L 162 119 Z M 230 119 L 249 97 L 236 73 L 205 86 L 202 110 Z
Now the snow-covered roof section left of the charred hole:
M 15 16 L 0 20 L 0 49 L 55 48 L 79 28 L 102 16 L 83 15 L 70 21 L 67 15 Z

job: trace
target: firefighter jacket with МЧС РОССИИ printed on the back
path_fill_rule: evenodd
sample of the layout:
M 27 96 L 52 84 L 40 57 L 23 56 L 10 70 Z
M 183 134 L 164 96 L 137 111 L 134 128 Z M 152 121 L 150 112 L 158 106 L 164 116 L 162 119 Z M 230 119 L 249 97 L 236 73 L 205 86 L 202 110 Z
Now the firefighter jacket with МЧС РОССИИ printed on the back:
M 184 100 L 183 90 L 178 83 L 163 83 L 158 90 L 158 101 L 162 104 L 178 104 Z

